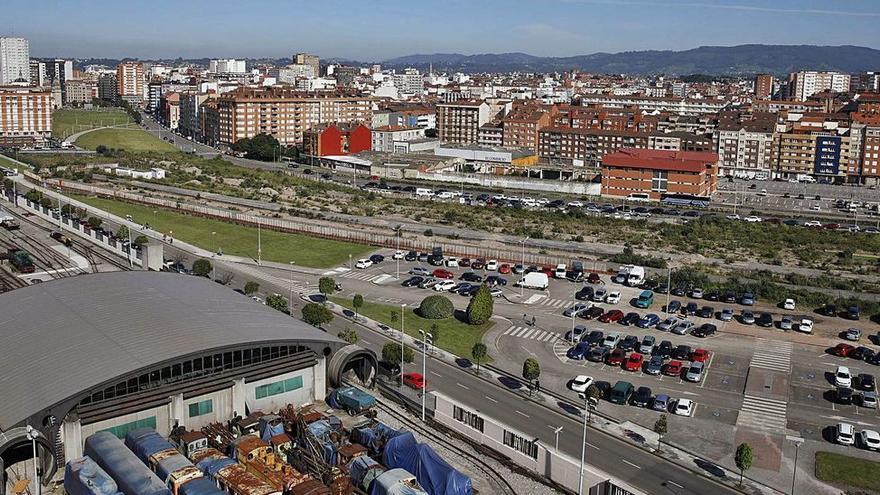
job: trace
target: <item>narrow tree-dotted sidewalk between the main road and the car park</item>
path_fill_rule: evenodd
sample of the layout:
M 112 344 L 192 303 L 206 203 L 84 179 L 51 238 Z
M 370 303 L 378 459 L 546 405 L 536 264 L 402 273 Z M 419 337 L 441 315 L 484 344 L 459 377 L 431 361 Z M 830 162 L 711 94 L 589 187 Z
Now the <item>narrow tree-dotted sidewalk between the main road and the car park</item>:
M 302 296 L 302 299 L 306 302 L 313 302 L 305 295 Z M 350 311 L 347 308 L 339 306 L 339 305 L 332 303 L 330 301 L 327 301 L 326 305 L 331 311 L 333 311 L 336 315 L 340 316 L 341 318 L 345 318 L 349 321 L 352 321 L 355 324 L 360 325 L 360 326 L 362 326 L 368 330 L 371 330 L 375 333 L 381 334 L 388 339 L 391 339 L 391 340 L 394 340 L 397 342 L 400 342 L 402 339 L 406 345 L 408 345 L 412 348 L 421 350 L 421 341 L 418 339 L 415 339 L 415 338 L 413 338 L 409 335 L 406 335 L 406 334 L 402 334 L 402 332 L 400 332 L 398 330 L 395 330 L 395 329 L 389 328 L 383 324 L 377 323 L 376 321 L 371 320 L 369 318 L 366 318 L 363 315 L 358 315 L 357 319 L 355 320 L 355 318 L 353 316 L 350 316 Z M 430 348 L 428 354 L 431 357 L 433 357 L 434 359 L 437 359 L 438 361 L 442 361 L 450 366 L 455 367 L 456 369 L 458 369 L 462 372 L 470 373 L 471 375 L 477 376 L 480 379 L 485 380 L 487 382 L 490 382 L 492 384 L 497 384 L 499 382 L 499 379 L 501 379 L 501 378 L 509 379 L 509 377 L 507 375 L 497 373 L 491 369 L 488 369 L 485 366 L 481 367 L 479 372 L 473 368 L 470 368 L 470 367 L 463 367 L 460 364 L 460 362 L 463 360 L 469 362 L 469 360 L 463 359 L 460 356 L 456 356 L 454 354 L 451 354 L 449 352 L 446 352 L 442 349 L 439 349 L 439 348 L 436 348 L 433 346 Z M 535 405 L 538 405 L 541 407 L 551 408 L 551 406 L 549 404 L 556 404 L 557 402 L 560 401 L 560 399 L 558 397 L 547 394 L 543 391 L 538 391 L 538 392 L 535 392 L 533 395 L 529 395 L 528 387 L 520 387 L 519 389 L 516 389 L 516 390 L 510 390 L 510 389 L 508 389 L 508 390 L 512 393 L 518 394 L 524 401 L 532 402 Z M 551 409 L 553 409 L 553 408 L 551 408 Z M 577 412 L 572 412 L 571 410 L 566 410 L 566 409 L 560 409 L 558 411 L 556 409 L 553 409 L 553 410 L 559 414 L 562 414 L 562 415 L 567 415 L 567 416 L 574 415 L 579 418 L 583 417 L 583 410 L 581 408 L 576 408 Z M 762 485 L 762 484 L 758 483 L 757 481 L 751 480 L 748 478 L 746 478 L 746 480 L 744 481 L 743 486 L 739 487 L 739 485 L 738 485 L 739 473 L 731 471 L 723 466 L 719 466 L 718 464 L 716 464 L 713 461 L 710 461 L 710 460 L 703 458 L 701 456 L 698 456 L 696 454 L 692 454 L 690 452 L 687 452 L 687 451 L 685 451 L 681 448 L 678 448 L 676 446 L 669 445 L 669 444 L 663 444 L 662 450 L 658 451 L 656 448 L 657 440 L 658 440 L 657 434 L 647 428 L 630 423 L 628 421 L 623 422 L 623 423 L 617 423 L 611 419 L 602 417 L 598 414 L 593 414 L 591 427 L 594 430 L 600 431 L 600 432 L 605 433 L 609 436 L 613 436 L 615 438 L 624 440 L 627 443 L 632 444 L 634 446 L 638 446 L 640 448 L 643 448 L 643 449 L 646 449 L 650 452 L 653 452 L 654 454 L 659 455 L 660 457 L 663 457 L 667 461 L 674 462 L 674 463 L 684 467 L 685 469 L 694 472 L 695 476 L 703 475 L 702 473 L 695 471 L 693 468 L 693 466 L 700 466 L 705 471 L 711 472 L 713 474 L 712 476 L 707 476 L 707 477 L 709 477 L 710 479 L 713 479 L 719 483 L 723 483 L 731 488 L 734 488 L 737 490 L 742 490 L 746 493 L 754 493 L 754 494 L 758 494 L 758 493 L 777 494 L 777 493 L 780 493 L 771 487 Z

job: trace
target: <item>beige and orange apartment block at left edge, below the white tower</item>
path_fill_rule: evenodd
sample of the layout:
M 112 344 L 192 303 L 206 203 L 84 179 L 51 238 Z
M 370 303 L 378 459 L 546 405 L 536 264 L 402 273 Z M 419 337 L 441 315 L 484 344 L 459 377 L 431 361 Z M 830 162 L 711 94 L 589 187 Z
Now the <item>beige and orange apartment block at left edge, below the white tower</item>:
M 41 143 L 52 136 L 52 92 L 0 86 L 0 146 Z

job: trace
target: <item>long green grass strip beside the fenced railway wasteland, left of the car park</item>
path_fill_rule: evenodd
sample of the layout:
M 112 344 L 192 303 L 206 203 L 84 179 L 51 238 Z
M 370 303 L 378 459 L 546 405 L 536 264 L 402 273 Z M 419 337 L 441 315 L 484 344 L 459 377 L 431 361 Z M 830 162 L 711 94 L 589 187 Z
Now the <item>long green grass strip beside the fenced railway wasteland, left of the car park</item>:
M 139 223 L 148 223 L 160 232 L 173 232 L 175 239 L 194 244 L 208 251 L 217 248 L 224 254 L 257 258 L 257 229 L 184 215 L 171 210 L 87 196 L 74 198 L 118 216 L 131 215 Z M 155 212 L 155 213 L 154 213 Z M 212 235 L 212 232 L 216 234 Z M 370 246 L 318 239 L 263 229 L 263 259 L 315 268 L 329 268 L 348 263 L 348 255 L 359 258 L 373 250 Z

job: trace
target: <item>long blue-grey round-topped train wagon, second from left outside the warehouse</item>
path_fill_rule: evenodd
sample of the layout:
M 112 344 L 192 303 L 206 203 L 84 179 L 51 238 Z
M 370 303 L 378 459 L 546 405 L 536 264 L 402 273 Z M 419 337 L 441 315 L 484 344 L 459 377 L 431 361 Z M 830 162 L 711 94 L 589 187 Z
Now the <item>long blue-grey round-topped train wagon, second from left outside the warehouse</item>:
M 171 491 L 112 433 L 86 438 L 85 455 L 110 475 L 125 495 L 171 495 Z

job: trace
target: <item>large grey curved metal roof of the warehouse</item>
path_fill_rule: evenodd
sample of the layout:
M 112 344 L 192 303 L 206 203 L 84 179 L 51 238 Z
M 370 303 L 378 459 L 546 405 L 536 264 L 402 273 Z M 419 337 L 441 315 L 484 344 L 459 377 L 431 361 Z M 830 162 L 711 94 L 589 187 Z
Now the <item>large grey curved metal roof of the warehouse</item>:
M 206 278 L 111 272 L 0 296 L 0 431 L 108 380 L 210 349 L 344 342 Z

